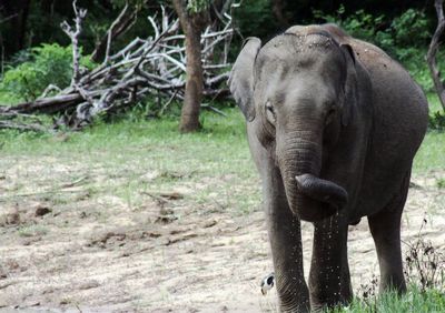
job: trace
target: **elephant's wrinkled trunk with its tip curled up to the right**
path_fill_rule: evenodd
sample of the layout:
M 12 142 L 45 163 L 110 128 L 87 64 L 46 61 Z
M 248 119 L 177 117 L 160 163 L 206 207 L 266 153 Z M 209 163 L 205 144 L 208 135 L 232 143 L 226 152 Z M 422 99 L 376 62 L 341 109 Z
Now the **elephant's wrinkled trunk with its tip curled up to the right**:
M 323 180 L 319 132 L 287 133 L 277 141 L 277 154 L 290 210 L 300 220 L 315 222 L 335 214 L 348 194 L 338 184 Z

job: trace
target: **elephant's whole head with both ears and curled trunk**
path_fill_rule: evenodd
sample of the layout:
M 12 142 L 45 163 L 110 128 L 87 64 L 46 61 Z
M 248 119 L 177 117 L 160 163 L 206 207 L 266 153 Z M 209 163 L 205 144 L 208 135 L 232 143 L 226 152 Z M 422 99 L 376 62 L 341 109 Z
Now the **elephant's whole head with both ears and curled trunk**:
M 281 172 L 294 214 L 317 221 L 342 210 L 348 193 L 322 179 L 329 150 L 347 127 L 355 57 L 326 32 L 285 33 L 261 48 L 250 38 L 229 79 L 230 91 Z

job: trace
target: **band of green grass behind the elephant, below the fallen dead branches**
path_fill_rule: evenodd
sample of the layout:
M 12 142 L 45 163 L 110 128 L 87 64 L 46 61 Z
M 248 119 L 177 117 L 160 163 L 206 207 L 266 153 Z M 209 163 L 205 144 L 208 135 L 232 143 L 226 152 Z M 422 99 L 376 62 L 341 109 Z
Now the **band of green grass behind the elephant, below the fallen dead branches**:
M 433 97 L 432 97 L 433 99 Z M 433 108 L 438 108 L 432 101 Z M 83 132 L 66 137 L 0 131 L 1 153 L 26 155 L 81 155 L 105 162 L 142 162 L 164 172 L 240 173 L 253 175 L 253 162 L 238 109 L 227 109 L 228 118 L 204 112 L 204 130 L 178 133 L 177 119 L 99 123 Z M 445 169 L 445 133 L 429 131 L 415 158 L 414 172 Z M 184 162 L 187 160 L 187 162 Z

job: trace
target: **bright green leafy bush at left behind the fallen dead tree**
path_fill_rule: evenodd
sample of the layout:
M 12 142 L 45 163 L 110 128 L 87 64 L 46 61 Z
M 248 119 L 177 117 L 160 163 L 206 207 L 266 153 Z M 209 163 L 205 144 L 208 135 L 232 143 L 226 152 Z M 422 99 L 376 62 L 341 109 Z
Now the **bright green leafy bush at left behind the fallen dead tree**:
M 71 81 L 71 47 L 43 43 L 30 50 L 27 61 L 7 70 L 0 83 L 0 91 L 29 101 L 39 97 L 51 83 L 61 89 L 66 88 Z M 82 58 L 81 64 L 93 68 L 88 58 Z

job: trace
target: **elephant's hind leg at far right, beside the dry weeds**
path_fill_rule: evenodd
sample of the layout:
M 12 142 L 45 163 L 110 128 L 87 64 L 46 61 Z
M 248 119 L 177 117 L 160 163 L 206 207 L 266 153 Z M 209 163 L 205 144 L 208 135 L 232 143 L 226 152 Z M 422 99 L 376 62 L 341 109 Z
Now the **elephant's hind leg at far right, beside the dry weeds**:
M 380 267 L 380 292 L 406 290 L 400 249 L 400 219 L 408 193 L 411 172 L 403 182 L 400 193 L 380 212 L 368 216 L 369 229 L 377 250 Z

